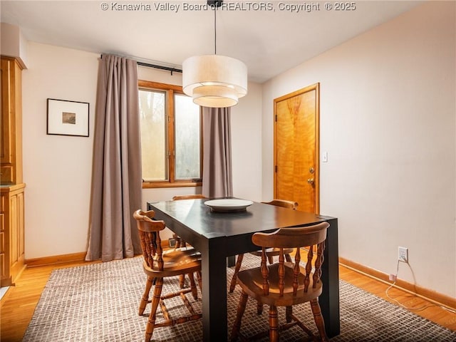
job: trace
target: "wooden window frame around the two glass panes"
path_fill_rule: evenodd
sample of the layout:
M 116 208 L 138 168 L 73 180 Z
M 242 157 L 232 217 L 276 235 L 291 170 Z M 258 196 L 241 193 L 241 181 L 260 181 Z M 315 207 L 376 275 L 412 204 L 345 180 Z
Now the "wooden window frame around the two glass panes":
M 166 96 L 166 132 L 167 132 L 167 168 L 169 170 L 168 180 L 142 181 L 142 189 L 160 187 L 200 187 L 202 178 L 189 180 L 175 179 L 175 94 L 185 95 L 181 86 L 158 83 L 152 81 L 138 81 L 138 90 L 159 90 L 164 91 Z M 202 176 L 202 108 L 199 108 L 199 174 Z

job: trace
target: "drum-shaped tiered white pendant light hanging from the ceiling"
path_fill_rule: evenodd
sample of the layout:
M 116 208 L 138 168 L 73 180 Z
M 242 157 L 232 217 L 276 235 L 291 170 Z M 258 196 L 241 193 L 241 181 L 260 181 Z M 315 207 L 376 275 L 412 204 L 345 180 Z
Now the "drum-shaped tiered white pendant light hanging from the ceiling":
M 217 8 L 223 0 L 208 0 L 214 8 L 214 54 L 192 56 L 182 63 L 182 89 L 197 105 L 231 107 L 247 94 L 247 66 L 235 58 L 217 55 Z

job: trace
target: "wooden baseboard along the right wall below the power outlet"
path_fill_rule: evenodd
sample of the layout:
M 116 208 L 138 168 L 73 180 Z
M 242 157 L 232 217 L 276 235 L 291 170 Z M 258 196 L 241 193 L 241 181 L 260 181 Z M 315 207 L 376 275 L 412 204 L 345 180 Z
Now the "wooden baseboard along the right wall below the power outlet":
M 348 269 L 369 276 L 375 280 L 391 285 L 391 281 L 389 280 L 389 274 L 385 274 L 376 269 L 371 269 L 368 266 L 357 264 L 356 262 L 343 258 L 339 258 L 339 264 Z M 445 294 L 439 294 L 436 291 L 425 289 L 424 287 L 417 286 L 415 284 L 409 283 L 408 281 L 404 281 L 401 279 L 397 279 L 394 287 L 401 289 L 405 292 L 408 292 L 409 294 L 413 294 L 427 301 L 430 301 L 433 304 L 445 306 L 448 309 L 456 310 L 456 299 L 450 296 L 446 296 Z

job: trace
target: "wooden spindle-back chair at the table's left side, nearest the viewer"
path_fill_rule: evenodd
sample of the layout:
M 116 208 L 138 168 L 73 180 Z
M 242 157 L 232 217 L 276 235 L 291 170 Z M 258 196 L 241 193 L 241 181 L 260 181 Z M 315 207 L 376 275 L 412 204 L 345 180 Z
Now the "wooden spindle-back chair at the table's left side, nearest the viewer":
M 143 212 L 137 210 L 133 213 L 138 225 L 140 234 L 142 256 L 142 269 L 147 275 L 145 291 L 140 301 L 139 314 L 144 313 L 147 303 L 152 303 L 150 308 L 149 318 L 145 328 L 145 342 L 149 342 L 155 328 L 161 326 L 173 326 L 177 323 L 185 323 L 187 321 L 194 321 L 202 317 L 202 314 L 197 314 L 193 309 L 192 304 L 185 294 L 192 293 L 193 298 L 198 298 L 197 286 L 193 273 L 197 272 L 199 287 L 201 288 L 201 254 L 192 247 L 184 247 L 177 249 L 162 250 L 160 239 L 160 232 L 165 229 L 165 222 L 155 221 L 153 219 L 155 212 L 150 210 Z M 190 289 L 180 289 L 162 295 L 163 279 L 169 276 L 179 276 L 181 274 L 189 274 L 190 276 Z M 154 286 L 154 294 L 152 300 L 149 299 L 150 289 Z M 184 302 L 185 307 L 189 311 L 189 315 L 172 318 L 170 312 L 165 306 L 165 299 L 170 299 L 179 296 Z M 156 322 L 157 306 L 160 304 L 163 321 Z

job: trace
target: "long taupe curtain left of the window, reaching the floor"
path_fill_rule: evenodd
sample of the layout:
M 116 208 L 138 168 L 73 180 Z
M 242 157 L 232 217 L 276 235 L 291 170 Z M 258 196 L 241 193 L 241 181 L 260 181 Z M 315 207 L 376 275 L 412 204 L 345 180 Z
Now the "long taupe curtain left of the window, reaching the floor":
M 86 260 L 110 261 L 140 253 L 133 219 L 142 202 L 140 155 L 137 63 L 103 55 L 95 105 Z

